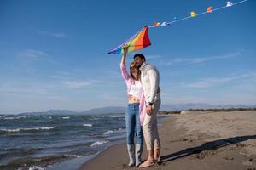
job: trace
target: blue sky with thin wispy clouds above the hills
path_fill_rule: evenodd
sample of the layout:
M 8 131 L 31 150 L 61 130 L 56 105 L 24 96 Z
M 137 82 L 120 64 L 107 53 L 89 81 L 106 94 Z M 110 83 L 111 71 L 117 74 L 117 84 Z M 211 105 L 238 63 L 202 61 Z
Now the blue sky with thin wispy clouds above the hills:
M 2 0 L 0 113 L 125 106 L 121 56 L 107 52 L 155 21 L 225 3 Z M 149 28 L 152 45 L 138 53 L 160 71 L 163 104 L 256 104 L 255 8 L 249 0 Z

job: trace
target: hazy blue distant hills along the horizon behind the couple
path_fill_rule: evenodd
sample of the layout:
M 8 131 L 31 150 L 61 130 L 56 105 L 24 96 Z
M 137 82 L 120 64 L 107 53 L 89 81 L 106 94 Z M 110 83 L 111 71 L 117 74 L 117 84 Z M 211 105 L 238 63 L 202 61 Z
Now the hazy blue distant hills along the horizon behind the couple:
M 256 105 L 208 105 L 201 103 L 177 104 L 177 105 L 161 105 L 160 111 L 186 111 L 190 109 L 230 109 L 230 108 L 256 108 Z M 26 112 L 19 115 L 96 115 L 108 113 L 125 113 L 125 107 L 112 106 L 95 108 L 88 111 L 69 111 L 69 110 L 49 110 L 43 112 Z

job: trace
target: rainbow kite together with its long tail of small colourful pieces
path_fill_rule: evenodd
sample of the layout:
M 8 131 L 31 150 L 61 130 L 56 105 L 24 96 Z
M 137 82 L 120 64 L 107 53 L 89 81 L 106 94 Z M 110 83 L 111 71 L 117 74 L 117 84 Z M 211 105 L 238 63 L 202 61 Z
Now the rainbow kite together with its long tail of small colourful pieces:
M 131 52 L 131 51 L 136 51 L 136 50 L 150 46 L 151 42 L 150 42 L 150 39 L 148 36 L 148 28 L 154 28 L 154 27 L 160 27 L 160 26 L 171 26 L 172 24 L 177 23 L 182 20 L 189 20 L 191 18 L 194 18 L 194 17 L 202 15 L 202 14 L 210 14 L 213 11 L 217 11 L 217 10 L 224 9 L 224 8 L 230 8 L 234 5 L 245 3 L 247 1 L 248 0 L 242 0 L 242 1 L 239 1 L 236 3 L 232 3 L 230 1 L 228 1 L 228 2 L 226 2 L 226 4 L 223 7 L 219 7 L 219 8 L 207 7 L 206 11 L 201 12 L 199 14 L 196 14 L 195 11 L 191 11 L 189 16 L 181 18 L 181 19 L 177 19 L 177 17 L 174 17 L 173 20 L 169 21 L 169 22 L 167 22 L 167 21 L 164 21 L 162 23 L 154 22 L 152 26 L 144 26 L 143 29 L 138 31 L 134 36 L 132 36 L 131 38 L 129 38 L 128 40 L 126 40 L 125 42 L 120 44 L 117 48 L 114 48 L 113 50 L 108 52 L 108 54 L 123 54 L 124 53 L 123 47 L 129 47 L 128 52 Z

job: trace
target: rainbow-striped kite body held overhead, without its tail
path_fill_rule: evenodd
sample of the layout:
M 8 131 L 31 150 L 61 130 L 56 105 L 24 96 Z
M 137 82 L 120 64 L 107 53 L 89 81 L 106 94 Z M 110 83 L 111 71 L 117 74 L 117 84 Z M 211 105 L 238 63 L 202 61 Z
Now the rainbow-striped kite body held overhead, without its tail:
M 142 30 L 138 31 L 133 37 L 120 44 L 119 47 L 114 48 L 108 54 L 123 54 L 123 47 L 127 46 L 128 52 L 136 51 L 138 49 L 146 48 L 151 45 L 149 36 L 148 36 L 148 26 L 143 27 Z

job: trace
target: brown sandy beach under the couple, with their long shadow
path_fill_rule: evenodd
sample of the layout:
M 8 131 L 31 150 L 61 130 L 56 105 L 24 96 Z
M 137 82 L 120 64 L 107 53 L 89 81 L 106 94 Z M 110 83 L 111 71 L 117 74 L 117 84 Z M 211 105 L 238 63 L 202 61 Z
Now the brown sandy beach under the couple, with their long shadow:
M 146 169 L 256 170 L 256 111 L 187 111 L 159 121 L 160 164 Z M 146 159 L 143 150 L 143 160 Z M 104 150 L 82 170 L 127 167 L 124 144 Z

